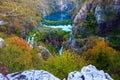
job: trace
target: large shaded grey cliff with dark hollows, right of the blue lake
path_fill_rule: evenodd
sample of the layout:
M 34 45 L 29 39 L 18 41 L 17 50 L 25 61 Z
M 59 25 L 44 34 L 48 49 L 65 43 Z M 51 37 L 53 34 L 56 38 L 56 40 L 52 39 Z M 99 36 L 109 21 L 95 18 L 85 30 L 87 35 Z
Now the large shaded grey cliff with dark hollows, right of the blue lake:
M 100 2 L 99 1 L 100 0 L 85 1 L 77 12 L 72 27 L 72 35 L 74 36 L 73 41 L 75 43 L 75 49 L 70 49 L 73 52 L 81 54 L 84 51 L 82 50 L 82 48 L 84 48 L 85 50 L 89 49 L 89 47 L 86 46 L 86 42 L 87 38 L 89 38 L 89 36 L 91 36 L 92 34 L 106 34 L 112 32 L 113 30 L 115 30 L 115 28 L 119 26 L 120 0 L 109 0 L 108 2 L 106 2 L 105 0 Z M 89 20 L 90 17 L 93 17 L 93 20 Z M 94 22 L 94 24 L 88 25 L 92 23 L 92 21 Z M 91 30 L 88 29 L 89 26 Z M 93 26 L 94 30 L 92 32 Z M 81 38 L 85 39 L 81 41 Z M 70 42 L 72 42 L 72 40 Z

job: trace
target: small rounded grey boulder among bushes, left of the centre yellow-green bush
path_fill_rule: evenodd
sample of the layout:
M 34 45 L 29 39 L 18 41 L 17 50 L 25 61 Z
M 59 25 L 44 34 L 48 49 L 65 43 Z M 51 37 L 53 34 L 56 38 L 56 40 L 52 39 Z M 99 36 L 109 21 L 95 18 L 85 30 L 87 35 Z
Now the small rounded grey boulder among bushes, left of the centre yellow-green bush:
M 48 59 L 49 57 L 52 56 L 52 54 L 50 53 L 50 51 L 48 49 L 46 49 L 45 47 L 43 46 L 39 46 L 40 48 L 40 53 L 38 53 L 38 55 L 40 57 L 42 57 L 43 59 Z

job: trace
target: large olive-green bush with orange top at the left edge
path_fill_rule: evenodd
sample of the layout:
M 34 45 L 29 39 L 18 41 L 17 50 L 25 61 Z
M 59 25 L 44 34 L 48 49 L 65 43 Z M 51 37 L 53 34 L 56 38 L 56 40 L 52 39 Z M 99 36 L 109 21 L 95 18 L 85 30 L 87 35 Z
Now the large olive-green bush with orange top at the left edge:
M 7 40 L 7 46 L 0 49 L 0 61 L 2 61 L 10 72 L 32 69 L 32 55 L 30 47 L 19 37 L 11 37 Z

